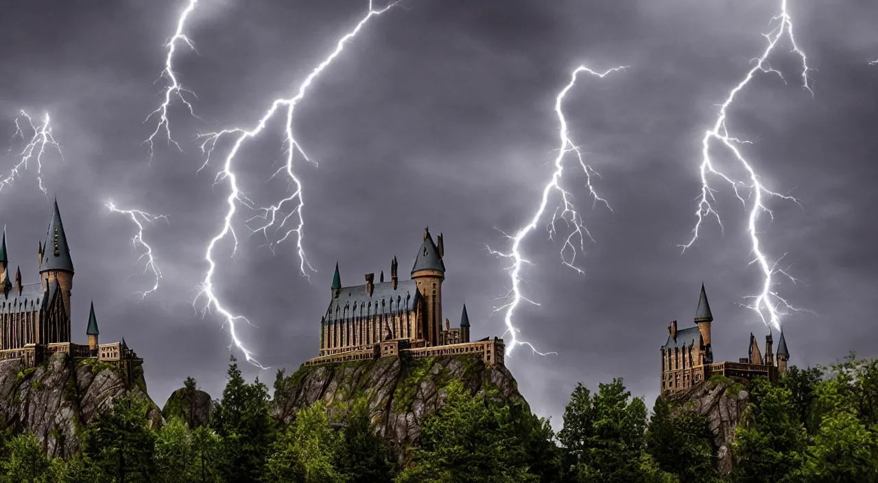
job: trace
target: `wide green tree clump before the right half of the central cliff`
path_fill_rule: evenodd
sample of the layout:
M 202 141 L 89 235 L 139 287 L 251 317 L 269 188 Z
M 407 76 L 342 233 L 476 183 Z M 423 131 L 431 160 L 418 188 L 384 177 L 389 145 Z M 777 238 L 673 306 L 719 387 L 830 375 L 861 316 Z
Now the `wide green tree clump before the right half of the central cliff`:
M 501 400 L 496 390 L 471 396 L 459 382 L 448 400 L 421 425 L 413 467 L 398 483 L 536 482 L 529 472 L 528 442 L 522 437 L 525 409 Z

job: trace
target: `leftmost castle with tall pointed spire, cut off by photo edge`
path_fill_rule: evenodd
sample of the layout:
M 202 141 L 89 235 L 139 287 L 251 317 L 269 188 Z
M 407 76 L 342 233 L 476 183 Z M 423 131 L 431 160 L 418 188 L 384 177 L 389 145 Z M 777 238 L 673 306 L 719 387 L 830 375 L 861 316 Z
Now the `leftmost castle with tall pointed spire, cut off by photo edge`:
M 11 280 L 4 230 L 0 246 L 0 360 L 22 359 L 25 366 L 34 367 L 42 363 L 44 357 L 63 352 L 75 359 L 97 359 L 113 364 L 130 375 L 133 365 L 143 360 L 128 349 L 125 339 L 98 343 L 94 302 L 85 327 L 88 343 L 70 342 L 70 292 L 75 272 L 57 199 L 46 241 L 39 243 L 39 255 L 39 282 L 23 284 L 20 268 L 15 270 L 15 279 Z

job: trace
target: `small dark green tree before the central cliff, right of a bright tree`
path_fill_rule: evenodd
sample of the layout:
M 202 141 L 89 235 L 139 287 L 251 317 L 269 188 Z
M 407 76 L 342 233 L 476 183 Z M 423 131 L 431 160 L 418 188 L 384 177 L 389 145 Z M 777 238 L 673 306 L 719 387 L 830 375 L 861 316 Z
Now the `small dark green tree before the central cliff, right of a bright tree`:
M 387 445 L 375 435 L 369 406 L 356 400 L 342 429 L 335 466 L 351 483 L 381 483 L 393 479 L 394 465 Z

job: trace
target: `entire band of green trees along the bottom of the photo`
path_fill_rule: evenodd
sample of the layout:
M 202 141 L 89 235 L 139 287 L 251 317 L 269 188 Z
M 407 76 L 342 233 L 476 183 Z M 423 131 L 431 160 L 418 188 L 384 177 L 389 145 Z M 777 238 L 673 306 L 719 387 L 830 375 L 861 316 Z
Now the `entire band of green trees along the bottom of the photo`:
M 703 415 L 661 399 L 648 415 L 622 379 L 594 392 L 576 386 L 557 435 L 524 404 L 452 383 L 399 465 L 363 400 L 349 401 L 343 421 L 318 403 L 284 426 L 270 417 L 263 383 L 245 381 L 234 359 L 227 374 L 209 425 L 172 417 L 152 429 L 144 402 L 120 397 L 83 429 L 82 451 L 67 461 L 47 458 L 34 435 L 0 431 L 0 483 L 878 481 L 878 361 L 853 355 L 749 384 L 730 475 L 717 471 Z

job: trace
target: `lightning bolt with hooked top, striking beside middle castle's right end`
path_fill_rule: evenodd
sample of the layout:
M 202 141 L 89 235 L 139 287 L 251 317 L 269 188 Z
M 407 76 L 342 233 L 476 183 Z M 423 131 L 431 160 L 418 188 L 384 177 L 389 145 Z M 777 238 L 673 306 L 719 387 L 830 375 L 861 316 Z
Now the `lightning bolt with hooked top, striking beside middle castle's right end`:
M 551 178 L 547 184 L 543 187 L 543 197 L 540 198 L 540 203 L 536 207 L 536 212 L 531 217 L 529 223 L 524 227 L 520 228 L 515 235 L 504 234 L 508 239 L 512 240 L 512 248 L 507 252 L 499 252 L 488 247 L 488 251 L 495 255 L 503 258 L 508 258 L 512 260 L 512 264 L 507 267 L 509 271 L 509 278 L 512 282 L 512 288 L 507 293 L 507 299 L 511 299 L 509 303 L 504 306 L 500 306 L 494 309 L 494 313 L 500 312 L 506 309 L 506 334 L 512 335 L 512 341 L 508 343 L 506 348 L 507 356 L 512 355 L 512 351 L 516 346 L 526 345 L 532 350 L 534 353 L 539 354 L 541 356 L 546 356 L 548 354 L 557 354 L 557 352 L 539 352 L 536 348 L 530 343 L 521 341 L 518 338 L 518 335 L 521 333 L 519 328 L 516 328 L 513 324 L 512 318 L 515 313 L 515 308 L 518 307 L 519 303 L 522 301 L 528 302 L 535 306 L 539 306 L 538 303 L 533 300 L 526 299 L 522 295 L 522 267 L 525 264 L 531 264 L 524 256 L 522 256 L 522 242 L 527 238 L 528 234 L 536 230 L 537 224 L 540 220 L 543 219 L 543 215 L 547 211 L 547 206 L 549 205 L 549 197 L 552 193 L 558 194 L 560 199 L 560 204 L 558 208 L 555 210 L 555 213 L 552 214 L 551 220 L 547 226 L 549 231 L 550 239 L 554 237 L 557 233 L 555 229 L 555 223 L 558 220 L 563 220 L 567 224 L 568 227 L 572 227 L 572 231 L 564 238 L 564 243 L 561 247 L 560 256 L 561 263 L 572 268 L 573 270 L 578 271 L 579 273 L 583 273 L 582 270 L 577 268 L 573 263 L 576 261 L 576 245 L 579 245 L 579 249 L 585 249 L 585 238 L 594 241 L 591 233 L 589 233 L 588 228 L 585 226 L 584 221 L 582 220 L 582 215 L 576 211 L 575 206 L 572 201 L 572 193 L 570 191 L 566 191 L 561 186 L 561 178 L 564 176 L 564 161 L 568 154 L 575 156 L 577 161 L 579 162 L 579 167 L 586 175 L 586 186 L 588 188 L 589 195 L 594 199 L 594 204 L 601 203 L 605 205 L 608 209 L 612 211 L 606 199 L 601 198 L 598 195 L 597 191 L 594 190 L 594 185 L 592 184 L 592 176 L 598 176 L 594 169 L 591 168 L 588 164 L 586 164 L 583 159 L 583 153 L 579 149 L 579 146 L 574 143 L 570 137 L 570 133 L 567 129 L 567 119 L 564 115 L 564 110 L 562 106 L 564 105 L 564 98 L 567 96 L 567 93 L 572 90 L 573 86 L 576 85 L 576 80 L 579 74 L 588 74 L 591 76 L 597 76 L 603 78 L 608 76 L 610 73 L 622 70 L 626 68 L 624 66 L 610 68 L 605 70 L 604 72 L 597 72 L 592 70 L 591 68 L 587 68 L 585 66 L 579 66 L 573 70 L 570 83 L 565 85 L 564 89 L 558 92 L 558 97 L 555 98 L 555 113 L 558 115 L 558 155 L 555 157 L 555 171 L 552 173 Z M 567 255 L 567 254 L 570 255 Z

